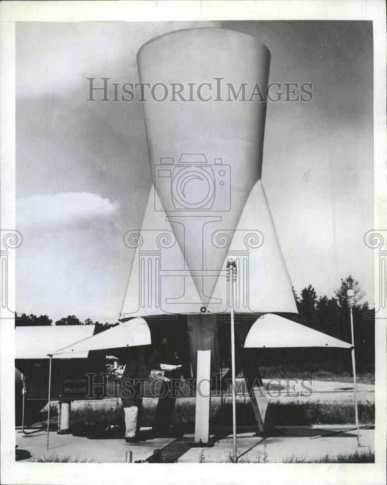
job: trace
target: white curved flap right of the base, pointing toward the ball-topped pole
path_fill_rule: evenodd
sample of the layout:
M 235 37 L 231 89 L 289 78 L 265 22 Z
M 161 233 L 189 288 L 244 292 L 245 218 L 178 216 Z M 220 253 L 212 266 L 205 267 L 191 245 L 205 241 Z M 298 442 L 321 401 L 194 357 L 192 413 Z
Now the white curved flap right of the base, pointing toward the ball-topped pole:
M 340 347 L 350 349 L 352 344 L 279 315 L 268 313 L 258 318 L 250 328 L 244 346 L 246 348 Z

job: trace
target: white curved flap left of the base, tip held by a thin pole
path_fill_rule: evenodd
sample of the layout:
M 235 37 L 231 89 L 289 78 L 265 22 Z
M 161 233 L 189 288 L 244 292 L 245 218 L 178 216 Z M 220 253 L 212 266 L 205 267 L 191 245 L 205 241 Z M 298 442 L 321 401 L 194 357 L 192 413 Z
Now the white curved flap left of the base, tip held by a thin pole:
M 63 354 L 74 356 L 74 354 L 78 355 L 91 350 L 134 347 L 136 345 L 150 345 L 150 343 L 149 327 L 143 318 L 138 317 L 104 330 L 97 335 L 78 340 L 66 347 L 50 352 L 49 355 L 53 357 L 61 357 Z

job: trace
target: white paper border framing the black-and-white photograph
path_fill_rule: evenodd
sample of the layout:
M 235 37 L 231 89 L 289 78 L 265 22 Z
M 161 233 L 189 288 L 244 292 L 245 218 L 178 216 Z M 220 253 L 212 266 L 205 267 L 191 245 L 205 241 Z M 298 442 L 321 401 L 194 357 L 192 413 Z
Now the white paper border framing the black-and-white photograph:
M 0 4 L 1 227 L 15 228 L 15 22 L 172 20 L 372 20 L 374 56 L 374 230 L 387 229 L 386 212 L 386 3 L 383 0 L 298 1 L 9 1 Z M 381 209 L 383 207 L 383 209 Z M 373 229 L 370 227 L 370 230 Z M 375 308 L 379 253 L 375 249 Z M 15 305 L 15 251 L 10 251 L 9 302 Z M 3 316 L 3 315 L 2 315 Z M 386 321 L 375 320 L 374 464 L 38 464 L 15 462 L 14 321 L 1 318 L 2 484 L 235 484 L 386 483 Z M 130 467 L 130 468 L 128 468 Z

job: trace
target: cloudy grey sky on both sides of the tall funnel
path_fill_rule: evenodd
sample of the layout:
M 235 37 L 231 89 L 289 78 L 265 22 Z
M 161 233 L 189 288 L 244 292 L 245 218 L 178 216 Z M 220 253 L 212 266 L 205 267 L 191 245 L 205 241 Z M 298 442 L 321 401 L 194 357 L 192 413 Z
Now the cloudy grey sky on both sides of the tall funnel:
M 143 106 L 87 102 L 87 77 L 138 82 L 136 53 L 183 28 L 222 26 L 271 51 L 262 182 L 290 278 L 333 296 L 353 275 L 373 305 L 372 24 L 345 21 L 16 24 L 16 311 L 114 322 L 151 178 Z

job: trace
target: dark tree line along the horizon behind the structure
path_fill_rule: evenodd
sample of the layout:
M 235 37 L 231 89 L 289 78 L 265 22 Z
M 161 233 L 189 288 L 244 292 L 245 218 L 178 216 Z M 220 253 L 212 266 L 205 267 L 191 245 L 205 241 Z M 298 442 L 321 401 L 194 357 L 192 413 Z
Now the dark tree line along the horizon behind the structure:
M 374 372 L 375 368 L 375 314 L 367 301 L 362 302 L 365 293 L 359 282 L 351 275 L 341 279 L 340 285 L 334 295 L 318 296 L 312 285 L 304 288 L 300 294 L 293 289 L 294 299 L 298 309 L 298 322 L 340 340 L 351 342 L 350 310 L 348 307 L 347 290 L 355 292 L 355 305 L 353 307 L 356 365 L 360 372 Z M 57 320 L 54 325 L 96 325 L 95 333 L 111 328 L 116 323 L 93 322 L 87 318 L 83 322 L 75 315 Z M 15 314 L 15 326 L 52 325 L 47 315 Z M 351 361 L 343 349 L 299 349 L 297 353 L 288 349 L 261 349 L 263 365 L 293 366 L 295 361 L 303 361 L 318 369 L 320 362 L 330 361 L 334 372 L 351 372 Z M 300 362 L 301 363 L 301 362 Z M 326 365 L 324 365 L 326 369 Z

